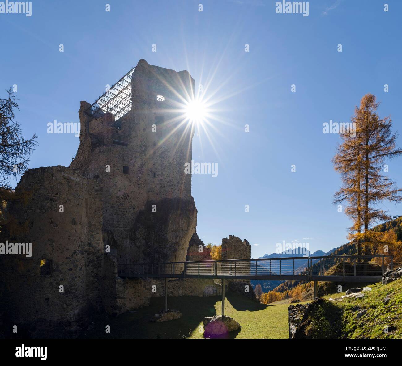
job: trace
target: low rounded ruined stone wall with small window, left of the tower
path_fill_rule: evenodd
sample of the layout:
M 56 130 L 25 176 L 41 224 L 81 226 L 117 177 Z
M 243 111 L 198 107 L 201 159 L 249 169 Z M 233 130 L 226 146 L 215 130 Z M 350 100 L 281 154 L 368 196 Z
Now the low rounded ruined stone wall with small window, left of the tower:
M 32 256 L 0 256 L 8 320 L 26 336 L 74 333 L 90 309 L 101 308 L 96 285 L 103 260 L 101 189 L 80 173 L 57 166 L 29 169 L 15 192 L 27 192 L 26 201 L 9 207 L 19 234 L 6 226 L 1 240 L 32 242 Z M 41 268 L 42 260 L 50 265 Z

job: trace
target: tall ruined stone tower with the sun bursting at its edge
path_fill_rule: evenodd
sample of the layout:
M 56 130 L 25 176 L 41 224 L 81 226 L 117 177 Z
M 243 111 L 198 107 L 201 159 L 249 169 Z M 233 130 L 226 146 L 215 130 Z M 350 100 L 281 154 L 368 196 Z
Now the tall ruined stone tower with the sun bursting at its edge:
M 131 111 L 117 123 L 110 113 L 91 118 L 81 102 L 80 146 L 70 168 L 103 188 L 105 245 L 120 263 L 185 260 L 197 210 L 191 175 L 184 174 L 194 130 L 180 108 L 193 95 L 187 71 L 142 59 L 131 77 Z

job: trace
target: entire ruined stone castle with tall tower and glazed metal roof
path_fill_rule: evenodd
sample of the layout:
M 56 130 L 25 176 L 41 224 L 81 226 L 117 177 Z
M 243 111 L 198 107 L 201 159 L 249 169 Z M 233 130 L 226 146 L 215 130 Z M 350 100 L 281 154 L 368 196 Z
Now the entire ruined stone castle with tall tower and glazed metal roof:
M 1 241 L 32 242 L 29 258 L 0 256 L 0 325 L 19 325 L 21 336 L 76 336 L 95 313 L 118 315 L 164 295 L 162 281 L 122 279 L 119 265 L 209 259 L 184 173 L 194 128 L 178 112 L 194 96 L 194 79 L 141 59 L 114 87 L 81 102 L 70 166 L 28 169 L 15 189 L 27 198 L 8 207 L 22 229 L 6 226 Z M 228 240 L 239 246 L 233 238 L 229 259 L 237 249 Z M 240 243 L 237 258 L 250 258 Z M 213 280 L 170 283 L 169 295 L 220 293 Z

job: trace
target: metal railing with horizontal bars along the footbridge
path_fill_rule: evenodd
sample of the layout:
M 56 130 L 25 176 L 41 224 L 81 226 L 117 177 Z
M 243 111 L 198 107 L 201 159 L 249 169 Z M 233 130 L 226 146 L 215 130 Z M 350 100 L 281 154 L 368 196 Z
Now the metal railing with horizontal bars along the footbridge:
M 190 262 L 134 263 L 118 266 L 120 277 L 381 277 L 392 269 L 393 257 L 383 254 L 310 256 Z

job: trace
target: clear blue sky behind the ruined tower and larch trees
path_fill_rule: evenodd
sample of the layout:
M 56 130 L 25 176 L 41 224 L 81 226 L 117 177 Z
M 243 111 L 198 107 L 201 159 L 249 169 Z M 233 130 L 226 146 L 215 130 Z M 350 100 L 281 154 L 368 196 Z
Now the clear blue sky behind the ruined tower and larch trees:
M 94 102 L 139 59 L 187 69 L 217 102 L 212 142 L 193 141 L 195 161 L 218 163 L 217 177 L 193 175 L 201 239 L 239 236 L 253 257 L 283 240 L 328 251 L 346 242 L 350 222 L 331 204 L 339 138 L 322 124 L 349 122 L 370 92 L 402 132 L 402 2 L 386 1 L 388 12 L 384 2 L 310 1 L 304 17 L 263 0 L 33 1 L 30 17 L 0 14 L 1 95 L 18 85 L 17 120 L 26 137 L 39 135 L 30 167 L 68 166 L 79 140 L 47 134 L 48 122 L 78 122 L 80 100 Z M 401 163 L 389 162 L 399 186 Z M 402 215 L 402 205 L 385 207 Z

